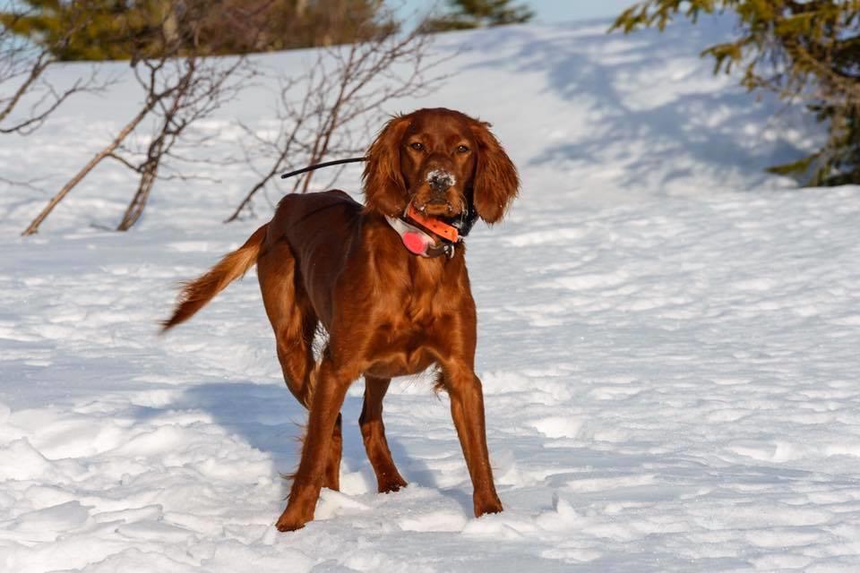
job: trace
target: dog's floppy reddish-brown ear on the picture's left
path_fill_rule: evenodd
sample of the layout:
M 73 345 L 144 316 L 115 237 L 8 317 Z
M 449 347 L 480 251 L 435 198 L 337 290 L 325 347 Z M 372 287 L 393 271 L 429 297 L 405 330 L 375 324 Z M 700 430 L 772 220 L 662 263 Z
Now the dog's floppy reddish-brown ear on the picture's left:
M 406 209 L 406 182 L 400 173 L 400 143 L 409 127 L 409 115 L 397 115 L 367 150 L 365 182 L 366 205 L 385 215 L 397 217 Z

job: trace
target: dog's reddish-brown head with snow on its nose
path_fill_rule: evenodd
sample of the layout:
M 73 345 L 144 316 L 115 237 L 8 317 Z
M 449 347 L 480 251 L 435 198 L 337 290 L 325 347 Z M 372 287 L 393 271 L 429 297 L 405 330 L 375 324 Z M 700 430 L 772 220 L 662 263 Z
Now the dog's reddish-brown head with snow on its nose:
M 367 152 L 364 180 L 370 210 L 397 217 L 411 202 L 430 217 L 456 218 L 472 205 L 487 223 L 520 189 L 489 124 L 443 108 L 391 119 Z

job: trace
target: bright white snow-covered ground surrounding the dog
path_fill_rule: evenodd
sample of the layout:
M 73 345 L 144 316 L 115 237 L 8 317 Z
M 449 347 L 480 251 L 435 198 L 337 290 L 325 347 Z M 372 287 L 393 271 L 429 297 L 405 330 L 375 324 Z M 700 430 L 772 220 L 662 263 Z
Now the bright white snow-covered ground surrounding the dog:
M 219 223 L 246 175 L 159 184 L 115 234 L 92 226 L 116 224 L 132 190 L 105 167 L 24 240 L 133 102 L 79 100 L 0 139 L 2 175 L 47 177 L 44 193 L 0 188 L 0 569 L 856 571 L 860 188 L 762 173 L 809 142 L 710 75 L 696 54 L 727 27 L 705 24 L 455 34 L 438 49 L 469 48 L 456 75 L 391 109 L 481 115 L 523 177 L 511 218 L 469 237 L 506 508 L 480 519 L 447 398 L 424 379 L 385 403 L 410 485 L 374 492 L 358 381 L 343 491 L 279 534 L 305 415 L 256 281 L 155 336 L 176 281 L 259 225 Z M 264 107 L 211 129 L 228 146 L 231 119 Z

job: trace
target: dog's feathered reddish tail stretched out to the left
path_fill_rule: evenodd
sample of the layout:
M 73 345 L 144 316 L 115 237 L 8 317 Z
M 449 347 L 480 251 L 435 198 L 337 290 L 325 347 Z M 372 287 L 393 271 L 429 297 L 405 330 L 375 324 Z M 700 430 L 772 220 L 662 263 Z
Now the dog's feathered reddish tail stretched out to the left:
M 241 277 L 257 262 L 262 243 L 266 238 L 266 223 L 251 235 L 245 244 L 221 259 L 217 265 L 201 278 L 185 283 L 179 294 L 179 301 L 167 321 L 161 323 L 161 331 L 172 329 L 177 324 L 190 319 L 195 312 L 202 309 L 215 295 L 224 290 L 236 278 Z

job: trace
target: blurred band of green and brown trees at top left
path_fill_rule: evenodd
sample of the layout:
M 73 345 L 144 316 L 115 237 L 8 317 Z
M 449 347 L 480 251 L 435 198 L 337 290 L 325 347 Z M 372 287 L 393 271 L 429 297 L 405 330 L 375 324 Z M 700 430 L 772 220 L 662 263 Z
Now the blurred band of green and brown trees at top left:
M 395 26 L 382 6 L 382 0 L 22 0 L 0 12 L 0 24 L 60 60 L 206 56 L 364 41 Z

